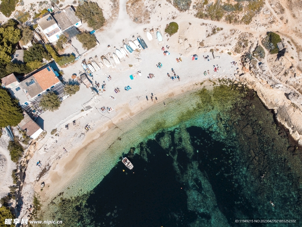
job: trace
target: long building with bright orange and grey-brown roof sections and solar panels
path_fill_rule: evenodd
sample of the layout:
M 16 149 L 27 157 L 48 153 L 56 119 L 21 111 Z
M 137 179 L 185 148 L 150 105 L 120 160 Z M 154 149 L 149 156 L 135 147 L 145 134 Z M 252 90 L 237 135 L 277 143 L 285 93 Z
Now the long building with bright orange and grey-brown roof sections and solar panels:
M 40 96 L 48 91 L 54 91 L 57 95 L 63 95 L 64 85 L 58 79 L 52 67 L 44 66 L 40 71 L 24 78 L 21 82 L 10 74 L 2 78 L 2 86 L 6 87 L 14 98 L 19 100 L 22 108 L 31 105 L 34 101 L 40 101 Z

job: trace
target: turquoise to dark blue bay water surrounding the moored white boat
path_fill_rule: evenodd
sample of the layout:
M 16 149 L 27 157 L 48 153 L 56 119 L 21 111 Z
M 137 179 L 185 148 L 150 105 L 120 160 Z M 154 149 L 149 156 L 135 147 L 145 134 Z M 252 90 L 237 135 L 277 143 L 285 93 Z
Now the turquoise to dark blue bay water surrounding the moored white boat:
M 253 91 L 219 86 L 165 103 L 86 147 L 93 165 L 45 215 L 63 226 L 266 226 L 235 220 L 302 216 L 300 148 Z M 135 174 L 122 171 L 123 153 Z

